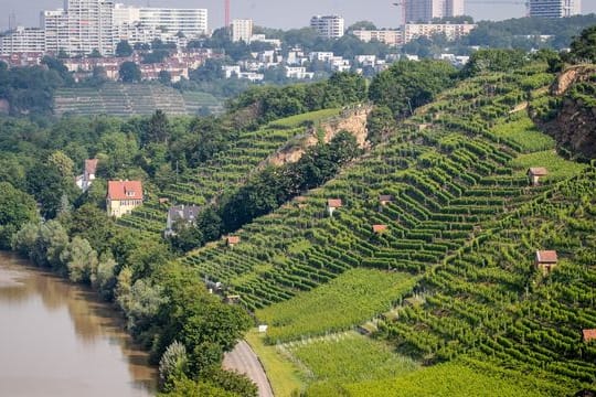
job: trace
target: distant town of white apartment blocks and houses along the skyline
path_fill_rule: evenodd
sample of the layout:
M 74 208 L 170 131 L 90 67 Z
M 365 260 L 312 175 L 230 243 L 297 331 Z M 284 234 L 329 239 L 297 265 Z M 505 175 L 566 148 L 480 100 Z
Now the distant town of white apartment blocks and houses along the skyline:
M 498 1 L 496 1 L 498 3 Z M 10 67 L 40 65 L 44 56 L 61 58 L 75 81 L 98 72 L 110 81 L 126 81 L 124 63 L 138 65 L 138 79 L 189 79 L 189 73 L 209 58 L 224 58 L 225 49 L 213 45 L 221 31 L 232 43 L 251 46 L 249 54 L 220 65 L 222 78 L 266 79 L 267 71 L 280 71 L 287 79 L 313 79 L 319 69 L 329 73 L 352 71 L 379 73 L 400 57 L 417 60 L 417 54 L 400 54 L 400 49 L 421 37 L 459 40 L 477 25 L 464 18 L 464 0 L 407 1 L 401 8 L 397 28 L 377 29 L 356 23 L 345 26 L 341 15 L 313 15 L 305 21 L 321 39 L 338 40 L 345 34 L 362 43 L 379 43 L 383 54 L 354 53 L 347 57 L 334 51 L 306 51 L 299 43 L 288 45 L 269 36 L 267 29 L 255 26 L 251 19 L 230 20 L 226 2 L 225 26 L 209 29 L 209 10 L 129 7 L 109 0 L 67 0 L 64 9 L 41 11 L 41 25 L 11 26 L 0 34 L 0 61 Z M 530 0 L 528 14 L 564 18 L 579 14 L 581 0 Z M 350 29 L 356 28 L 356 29 Z M 150 52 L 153 56 L 147 56 Z M 464 65 L 467 55 L 444 53 L 438 57 Z

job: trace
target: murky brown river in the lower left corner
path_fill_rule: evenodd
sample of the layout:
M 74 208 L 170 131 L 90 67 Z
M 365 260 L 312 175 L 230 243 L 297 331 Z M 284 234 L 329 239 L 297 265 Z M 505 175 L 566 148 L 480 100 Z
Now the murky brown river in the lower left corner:
M 153 396 L 147 360 L 92 291 L 0 251 L 0 396 Z

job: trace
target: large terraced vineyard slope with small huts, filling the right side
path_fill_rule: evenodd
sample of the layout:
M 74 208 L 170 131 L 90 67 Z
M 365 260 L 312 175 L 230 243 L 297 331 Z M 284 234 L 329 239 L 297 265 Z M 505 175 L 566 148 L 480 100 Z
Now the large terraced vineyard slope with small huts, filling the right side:
M 461 82 L 338 178 L 243 227 L 237 246 L 214 243 L 182 262 L 255 310 L 269 330 L 253 343 L 298 363 L 308 395 L 426 395 L 425 378 L 454 376 L 486 395 L 586 387 L 594 170 L 560 158 L 526 114 L 554 79 L 544 68 Z M 531 167 L 549 169 L 536 186 Z M 342 201 L 332 216 L 329 198 Z M 539 249 L 560 254 L 550 276 L 532 266 Z M 352 352 L 361 366 L 341 376 L 317 366 L 320 348 L 296 345 L 329 337 L 326 362 L 345 360 L 341 334 L 356 328 L 384 342 Z M 374 366 L 363 352 L 385 343 L 395 360 L 447 363 L 356 376 Z M 445 387 L 426 391 L 458 395 Z

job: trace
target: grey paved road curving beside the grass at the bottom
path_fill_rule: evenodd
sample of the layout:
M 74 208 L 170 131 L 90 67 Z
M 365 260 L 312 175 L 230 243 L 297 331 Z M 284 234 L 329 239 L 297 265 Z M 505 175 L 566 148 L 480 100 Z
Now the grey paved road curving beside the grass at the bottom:
M 240 342 L 232 352 L 225 354 L 223 366 L 226 369 L 235 369 L 248 376 L 258 386 L 259 397 L 274 397 L 272 385 L 267 379 L 263 365 L 245 341 Z

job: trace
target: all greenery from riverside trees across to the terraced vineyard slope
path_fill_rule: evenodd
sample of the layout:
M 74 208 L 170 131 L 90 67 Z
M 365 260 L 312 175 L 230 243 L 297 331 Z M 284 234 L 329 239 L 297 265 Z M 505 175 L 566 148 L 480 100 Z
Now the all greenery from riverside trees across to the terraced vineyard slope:
M 596 328 L 596 171 L 558 157 L 530 118 L 557 114 L 557 63 L 505 50 L 460 72 L 400 62 L 370 87 L 338 74 L 253 89 L 217 118 L 6 118 L 1 242 L 116 302 L 171 395 L 256 394 L 220 369 L 253 324 L 245 309 L 269 325 L 255 343 L 276 345 L 308 396 L 590 388 L 596 353 L 582 330 Z M 364 100 L 364 152 L 338 133 L 296 163 L 253 171 Z M 94 155 L 99 179 L 81 195 L 75 168 Z M 549 168 L 538 186 L 530 165 Z M 100 210 L 114 178 L 142 179 L 149 196 L 117 222 Z M 159 236 L 163 196 L 203 206 L 170 240 Z M 342 200 L 332 216 L 329 198 Z M 241 243 L 227 247 L 226 233 Z M 558 251 L 552 273 L 533 268 L 538 249 Z M 209 294 L 205 278 L 241 305 Z

